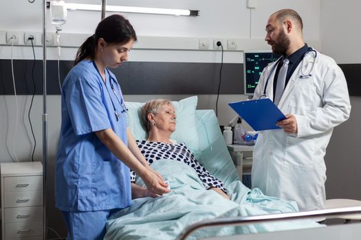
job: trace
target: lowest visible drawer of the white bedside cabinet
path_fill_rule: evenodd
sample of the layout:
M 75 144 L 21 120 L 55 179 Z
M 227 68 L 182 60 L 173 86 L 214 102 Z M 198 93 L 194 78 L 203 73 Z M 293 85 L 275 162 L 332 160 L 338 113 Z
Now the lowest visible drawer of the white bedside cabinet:
M 32 237 L 43 235 L 43 221 L 5 224 L 5 237 Z

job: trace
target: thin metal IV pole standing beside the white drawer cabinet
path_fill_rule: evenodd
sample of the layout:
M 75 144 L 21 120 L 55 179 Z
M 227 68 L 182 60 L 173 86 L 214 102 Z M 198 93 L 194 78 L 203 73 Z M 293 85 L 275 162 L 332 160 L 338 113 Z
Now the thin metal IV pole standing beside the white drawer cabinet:
M 47 95 L 46 95 L 46 8 L 43 0 L 43 239 L 47 239 Z

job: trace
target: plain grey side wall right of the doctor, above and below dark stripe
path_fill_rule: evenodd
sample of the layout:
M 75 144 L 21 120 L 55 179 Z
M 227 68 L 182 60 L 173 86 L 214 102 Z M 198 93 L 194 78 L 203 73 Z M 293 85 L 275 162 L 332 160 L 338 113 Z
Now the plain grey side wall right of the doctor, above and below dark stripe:
M 361 64 L 361 2 L 321 1 L 322 50 L 339 64 Z M 361 97 L 351 97 L 351 117 L 335 128 L 327 147 L 327 198 L 361 200 Z

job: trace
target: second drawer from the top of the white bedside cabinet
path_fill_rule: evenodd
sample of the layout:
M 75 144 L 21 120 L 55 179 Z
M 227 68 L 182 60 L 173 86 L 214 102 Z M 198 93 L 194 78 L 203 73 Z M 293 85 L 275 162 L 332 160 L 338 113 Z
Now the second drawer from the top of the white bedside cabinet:
M 42 206 L 43 205 L 43 192 L 30 191 L 30 192 L 11 192 L 4 194 L 4 206 L 6 208 L 13 208 L 19 206 Z

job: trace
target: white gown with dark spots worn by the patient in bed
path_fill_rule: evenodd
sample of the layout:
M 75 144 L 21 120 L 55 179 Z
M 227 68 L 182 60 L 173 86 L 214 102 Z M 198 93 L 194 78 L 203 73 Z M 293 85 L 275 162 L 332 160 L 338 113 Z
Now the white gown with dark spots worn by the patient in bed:
M 160 159 L 178 160 L 179 162 L 186 163 L 190 167 L 193 167 L 193 169 L 197 171 L 198 177 L 203 182 L 206 189 L 216 187 L 226 193 L 223 182 L 215 178 L 215 176 L 212 176 L 209 171 L 200 165 L 184 143 L 177 144 L 175 141 L 173 144 L 156 143 L 146 140 L 137 140 L 136 143 L 149 165 Z M 137 174 L 134 171 L 131 171 L 131 182 L 135 182 L 136 176 Z

